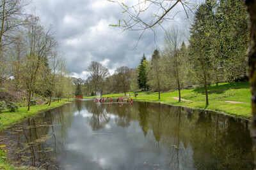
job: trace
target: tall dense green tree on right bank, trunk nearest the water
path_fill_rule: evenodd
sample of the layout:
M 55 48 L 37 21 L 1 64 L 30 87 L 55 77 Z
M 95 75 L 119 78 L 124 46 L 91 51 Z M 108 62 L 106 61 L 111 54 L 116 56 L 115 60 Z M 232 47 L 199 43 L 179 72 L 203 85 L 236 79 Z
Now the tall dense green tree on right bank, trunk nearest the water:
M 211 32 L 209 27 L 212 24 L 213 18 L 213 3 L 211 0 L 205 1 L 201 4 L 195 12 L 194 22 L 191 30 L 191 37 L 189 39 L 189 56 L 194 78 L 204 85 L 205 88 L 205 103 L 208 101 L 207 86 L 211 84 L 213 73 L 211 50 Z

